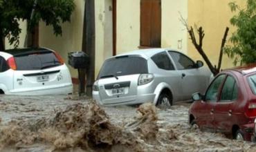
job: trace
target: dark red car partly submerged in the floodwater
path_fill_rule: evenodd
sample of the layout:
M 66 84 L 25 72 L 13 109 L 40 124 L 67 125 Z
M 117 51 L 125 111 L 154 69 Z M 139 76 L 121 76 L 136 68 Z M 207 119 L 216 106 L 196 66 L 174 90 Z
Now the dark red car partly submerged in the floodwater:
M 253 140 L 256 117 L 256 64 L 222 70 L 205 95 L 194 93 L 189 123 L 225 133 L 237 140 Z

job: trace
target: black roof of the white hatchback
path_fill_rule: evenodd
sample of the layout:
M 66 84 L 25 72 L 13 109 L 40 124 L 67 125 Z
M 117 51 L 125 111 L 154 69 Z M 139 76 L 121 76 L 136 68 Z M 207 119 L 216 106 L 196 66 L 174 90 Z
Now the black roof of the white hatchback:
M 19 55 L 27 55 L 31 53 L 44 53 L 52 51 L 47 48 L 15 48 L 15 49 L 9 49 L 2 51 L 3 53 L 8 53 L 13 56 L 19 56 Z

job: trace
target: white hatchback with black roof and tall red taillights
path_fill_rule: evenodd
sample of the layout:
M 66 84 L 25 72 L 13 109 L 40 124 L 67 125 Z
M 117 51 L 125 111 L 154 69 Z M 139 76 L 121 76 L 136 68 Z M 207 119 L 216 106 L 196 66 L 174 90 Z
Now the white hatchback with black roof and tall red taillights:
M 22 48 L 0 52 L 0 93 L 53 95 L 72 92 L 69 70 L 55 51 Z

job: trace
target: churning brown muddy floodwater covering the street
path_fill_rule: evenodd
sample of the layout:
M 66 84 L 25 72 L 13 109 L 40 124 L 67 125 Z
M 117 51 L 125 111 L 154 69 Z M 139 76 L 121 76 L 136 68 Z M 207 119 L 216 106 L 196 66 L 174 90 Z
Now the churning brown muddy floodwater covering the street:
M 191 129 L 189 106 L 0 95 L 0 151 L 256 151 L 254 143 Z

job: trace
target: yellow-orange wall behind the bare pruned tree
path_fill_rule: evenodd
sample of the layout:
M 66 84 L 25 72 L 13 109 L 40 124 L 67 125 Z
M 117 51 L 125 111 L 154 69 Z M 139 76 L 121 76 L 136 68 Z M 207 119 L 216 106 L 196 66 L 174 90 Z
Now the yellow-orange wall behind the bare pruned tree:
M 233 0 L 188 1 L 188 24 L 193 27 L 203 27 L 205 32 L 203 49 L 213 65 L 218 64 L 221 40 L 226 27 L 228 26 L 230 28 L 228 39 L 235 30 L 235 28 L 230 25 L 230 19 L 235 15 L 228 6 L 228 3 L 231 1 Z M 237 0 L 237 4 L 241 7 L 244 6 L 245 3 L 246 1 L 244 0 Z M 190 39 L 188 39 L 188 55 L 193 59 L 203 60 L 192 45 Z M 232 66 L 232 59 L 228 59 L 227 55 L 224 55 L 221 68 L 230 68 Z

